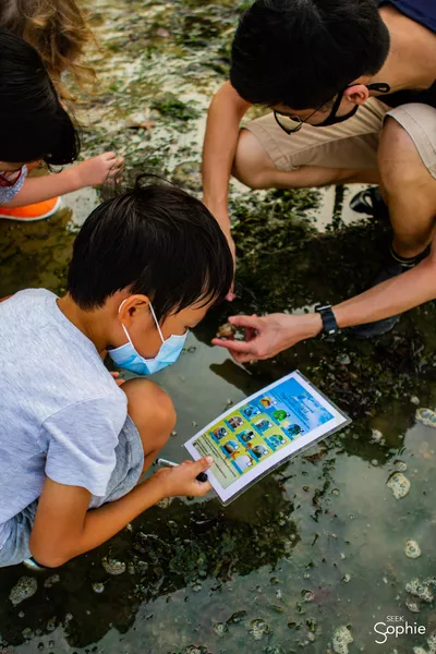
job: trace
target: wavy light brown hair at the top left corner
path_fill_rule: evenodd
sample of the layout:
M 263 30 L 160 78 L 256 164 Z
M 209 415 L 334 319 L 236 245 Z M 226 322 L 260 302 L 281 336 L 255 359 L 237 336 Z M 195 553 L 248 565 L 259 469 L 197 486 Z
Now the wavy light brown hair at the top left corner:
M 94 35 L 75 0 L 1 0 L 0 25 L 34 46 L 62 98 L 73 99 L 62 84 L 65 71 L 81 87 L 95 83 L 94 69 L 83 62 Z

